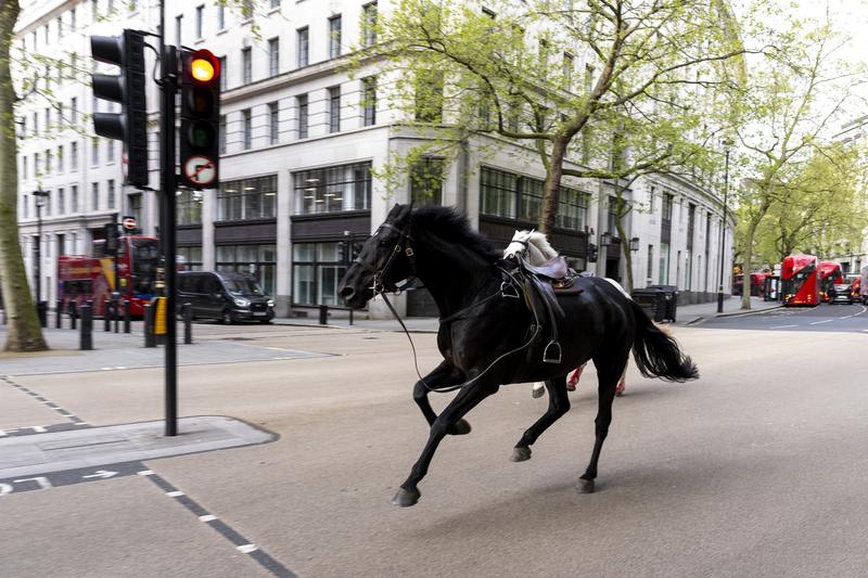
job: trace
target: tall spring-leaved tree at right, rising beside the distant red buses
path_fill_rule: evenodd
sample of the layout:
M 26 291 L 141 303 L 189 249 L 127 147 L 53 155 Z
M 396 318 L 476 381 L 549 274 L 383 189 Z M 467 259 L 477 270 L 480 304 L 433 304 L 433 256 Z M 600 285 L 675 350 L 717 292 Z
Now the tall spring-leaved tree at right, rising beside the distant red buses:
M 828 23 L 788 18 L 786 26 L 778 49 L 757 63 L 750 89 L 733 101 L 743 119 L 735 131 L 742 153 L 738 170 L 745 180 L 735 190 L 745 275 L 753 270 L 756 232 L 769 211 L 783 214 L 794 206 L 799 177 L 809 175 L 805 166 L 813 157 L 833 156 L 830 132 L 850 114 L 852 89 L 863 78 L 858 68 L 845 70 L 834 60 L 840 44 Z M 751 308 L 750 292 L 743 293 L 741 308 Z

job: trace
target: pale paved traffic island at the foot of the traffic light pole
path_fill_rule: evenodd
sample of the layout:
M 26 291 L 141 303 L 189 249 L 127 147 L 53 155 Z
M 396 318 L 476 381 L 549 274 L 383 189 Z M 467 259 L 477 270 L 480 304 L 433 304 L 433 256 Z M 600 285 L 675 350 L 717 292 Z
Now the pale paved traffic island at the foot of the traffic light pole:
M 0 480 L 50 472 L 267 444 L 277 436 L 232 418 L 178 420 L 166 437 L 164 422 L 89 427 L 0 439 Z

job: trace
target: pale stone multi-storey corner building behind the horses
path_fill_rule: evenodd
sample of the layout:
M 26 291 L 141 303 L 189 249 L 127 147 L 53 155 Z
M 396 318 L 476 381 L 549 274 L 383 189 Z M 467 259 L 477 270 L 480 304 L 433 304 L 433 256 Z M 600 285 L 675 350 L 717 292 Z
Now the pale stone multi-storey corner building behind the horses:
M 80 67 L 91 63 L 90 35 L 157 29 L 156 5 L 141 1 L 31 4 L 16 29 L 20 50 L 60 50 Z M 397 187 L 380 177 L 424 137 L 378 98 L 375 68 L 350 77 L 343 65 L 350 47 L 375 41 L 363 23 L 388 8 L 383 0 L 269 0 L 245 15 L 210 0 L 168 4 L 166 41 L 207 48 L 222 65 L 219 188 L 176 192 L 178 253 L 188 268 L 248 272 L 275 296 L 278 314 L 291 317 L 341 305 L 335 290 L 352 247 L 396 202 L 456 206 L 503 246 L 515 229 L 535 227 L 545 171 L 532 151 L 523 155 L 513 142 L 472 137 L 455 158 L 426 157 Z M 89 136 L 88 115 L 107 108 L 86 81 L 41 65 L 18 74 L 44 78 L 54 95 L 49 103 L 34 94 L 17 114 L 22 246 L 33 271 L 41 220 L 41 298 L 52 300 L 59 254 L 87 253 L 105 222 L 127 215 L 144 234 L 158 234 L 157 200 L 123 184 L 118 142 Z M 157 93 L 150 90 L 156 120 Z M 157 188 L 156 133 L 150 144 L 151 187 Z M 41 219 L 34 191 L 49 193 Z M 631 245 L 635 286 L 677 285 L 685 300 L 711 299 L 723 270 L 729 293 L 732 222 L 723 224 L 716 191 L 672 177 L 638 179 L 626 193 L 637 207 L 625 219 L 627 239 L 614 228 L 613 192 L 612 183 L 564 179 L 551 241 L 575 267 L 623 280 L 621 247 Z M 588 260 L 591 243 L 600 247 L 596 262 Z M 398 306 L 408 314 L 436 314 L 424 292 L 409 293 Z M 385 309 L 373 303 L 370 313 Z

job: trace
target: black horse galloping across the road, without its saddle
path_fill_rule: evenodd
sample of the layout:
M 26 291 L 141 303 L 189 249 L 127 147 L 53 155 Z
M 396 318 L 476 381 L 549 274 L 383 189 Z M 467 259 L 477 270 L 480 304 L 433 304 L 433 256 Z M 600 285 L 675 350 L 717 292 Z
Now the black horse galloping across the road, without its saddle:
M 397 291 L 397 283 L 417 278 L 439 309 L 437 345 L 444 361 L 413 388 L 413 399 L 431 425 L 431 434 L 393 499 L 397 505 L 419 501 L 417 485 L 441 440 L 447 434 L 470 433 L 463 416 L 495 394 L 500 384 L 546 382 L 548 410 L 524 433 L 511 457 L 513 461 L 528 460 L 531 445 L 570 409 L 566 375 L 593 360 L 599 375 L 596 440 L 590 463 L 576 487 L 580 492 L 591 492 L 600 449 L 612 421 L 615 386 L 630 348 L 647 377 L 682 382 L 699 376 L 690 358 L 633 299 L 597 278 L 576 279 L 584 291 L 558 297 L 564 313 L 558 323 L 563 355 L 560 362 L 544 362 L 550 327 L 528 307 L 524 290 L 503 266 L 500 253 L 454 209 L 396 205 L 341 281 L 340 295 L 349 307 L 358 308 L 378 294 Z M 437 415 L 427 394 L 450 386 L 459 391 Z

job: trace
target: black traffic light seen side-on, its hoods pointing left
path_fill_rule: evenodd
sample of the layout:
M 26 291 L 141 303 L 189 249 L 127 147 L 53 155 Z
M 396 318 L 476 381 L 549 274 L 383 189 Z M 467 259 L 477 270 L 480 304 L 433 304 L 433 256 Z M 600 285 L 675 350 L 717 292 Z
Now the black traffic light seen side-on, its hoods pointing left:
M 94 74 L 93 95 L 120 103 L 120 113 L 93 113 L 93 130 L 100 137 L 124 142 L 125 182 L 148 185 L 148 100 L 144 86 L 144 33 L 124 30 L 123 36 L 91 36 L 93 60 L 120 67 L 119 75 Z

